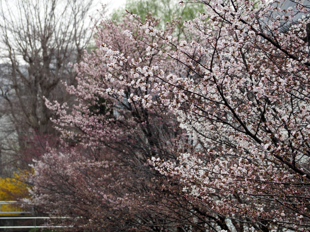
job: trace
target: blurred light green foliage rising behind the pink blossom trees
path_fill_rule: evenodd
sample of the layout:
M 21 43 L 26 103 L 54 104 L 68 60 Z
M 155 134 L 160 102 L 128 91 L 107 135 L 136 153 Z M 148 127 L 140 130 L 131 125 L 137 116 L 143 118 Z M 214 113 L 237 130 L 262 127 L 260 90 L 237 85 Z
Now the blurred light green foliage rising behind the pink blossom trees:
M 180 6 L 176 0 L 127 0 L 124 8 L 119 8 L 111 14 L 112 20 L 120 20 L 125 10 L 140 15 L 144 22 L 145 15 L 149 12 L 160 18 L 159 27 L 166 22 L 171 22 L 174 16 L 181 16 L 183 21 L 193 19 L 198 12 L 203 12 L 203 4 L 187 3 Z

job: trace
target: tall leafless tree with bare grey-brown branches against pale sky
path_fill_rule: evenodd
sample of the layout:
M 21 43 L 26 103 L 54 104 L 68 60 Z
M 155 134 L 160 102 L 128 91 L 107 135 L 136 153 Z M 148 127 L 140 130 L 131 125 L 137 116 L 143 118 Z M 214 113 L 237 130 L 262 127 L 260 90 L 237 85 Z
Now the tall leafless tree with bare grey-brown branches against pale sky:
M 0 1 L 1 105 L 17 131 L 17 147 L 31 129 L 53 132 L 45 98 L 66 98 L 60 83 L 74 81 L 70 63 L 90 42 L 92 8 L 93 0 Z

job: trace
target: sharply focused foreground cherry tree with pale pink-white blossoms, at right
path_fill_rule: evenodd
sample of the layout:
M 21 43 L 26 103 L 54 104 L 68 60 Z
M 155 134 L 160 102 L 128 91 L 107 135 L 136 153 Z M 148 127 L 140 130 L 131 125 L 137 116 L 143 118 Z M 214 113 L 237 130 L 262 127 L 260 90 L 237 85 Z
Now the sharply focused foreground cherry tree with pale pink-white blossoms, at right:
M 149 43 L 149 49 L 165 54 L 152 73 L 102 45 L 113 61 L 110 67 L 129 66 L 132 85 L 159 96 L 158 101 L 133 95 L 129 101 L 170 108 L 197 143 L 195 152 L 180 154 L 178 161 L 154 157 L 153 163 L 161 174 L 184 181 L 189 197 L 224 214 L 231 221 L 229 230 L 242 222 L 244 230 L 306 231 L 308 2 L 296 1 L 286 9 L 280 1 L 192 2 L 203 4 L 205 12 L 185 22 L 189 42 L 162 34 L 152 22 L 140 22 L 141 30 L 166 43 Z M 133 32 L 127 36 L 139 41 Z M 165 72 L 167 58 L 191 76 L 173 73 L 174 68 Z

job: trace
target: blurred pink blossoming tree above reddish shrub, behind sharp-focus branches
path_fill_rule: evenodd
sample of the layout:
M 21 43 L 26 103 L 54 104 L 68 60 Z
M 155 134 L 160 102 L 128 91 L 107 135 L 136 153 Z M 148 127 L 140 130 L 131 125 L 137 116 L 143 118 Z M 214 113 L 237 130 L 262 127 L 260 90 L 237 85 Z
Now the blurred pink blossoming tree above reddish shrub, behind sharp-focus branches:
M 145 56 L 143 61 L 133 58 L 131 62 L 149 63 L 151 67 L 157 60 L 151 57 L 153 51 L 144 41 L 146 34 L 137 31 L 137 36 L 141 37 L 139 43 L 124 36 L 124 28 L 138 28 L 137 22 L 127 19 L 128 17 L 120 26 L 102 21 L 101 25 L 95 28 L 96 45 L 99 47 L 105 41 L 123 54 L 127 54 L 126 60 L 130 59 L 129 57 Z M 172 29 L 173 25 L 167 30 Z M 154 46 L 159 46 L 153 39 L 152 42 Z M 78 86 L 67 87 L 68 92 L 77 98 L 77 104 L 70 108 L 71 106 L 67 104 L 47 101 L 47 106 L 55 111 L 53 121 L 58 130 L 67 139 L 79 141 L 85 146 L 104 145 L 118 149 L 122 144 L 128 145 L 131 152 L 135 147 L 134 153 L 140 159 L 161 153 L 171 158 L 175 157 L 173 154 L 176 151 L 173 149 L 181 147 L 180 143 L 184 141 L 182 132 L 179 132 L 182 130 L 175 126 L 177 123 L 174 116 L 159 107 L 146 109 L 144 102 L 129 104 L 130 96 L 152 98 L 152 93 L 143 86 L 132 87 L 130 84 L 132 73 L 126 67 L 115 73 L 109 73 L 109 70 L 113 69 L 110 64 L 107 54 L 100 49 L 91 54 L 85 52 L 83 61 L 75 66 Z M 145 71 L 147 72 L 147 69 Z M 124 83 L 128 84 L 124 86 Z M 166 139 L 165 143 L 162 143 L 163 137 Z M 186 149 L 186 146 L 181 149 Z M 120 152 L 123 150 L 122 148 Z

